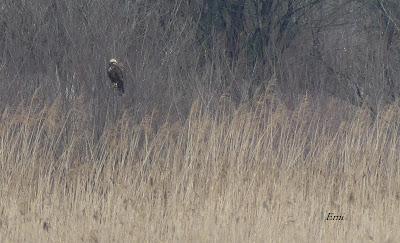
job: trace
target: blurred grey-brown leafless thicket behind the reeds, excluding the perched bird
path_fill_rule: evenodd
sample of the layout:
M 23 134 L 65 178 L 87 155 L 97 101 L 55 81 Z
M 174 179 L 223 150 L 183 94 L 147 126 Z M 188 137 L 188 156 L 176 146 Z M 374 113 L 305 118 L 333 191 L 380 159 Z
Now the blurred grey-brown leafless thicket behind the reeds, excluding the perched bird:
M 100 129 L 109 114 L 183 120 L 194 99 L 266 90 L 376 111 L 399 96 L 399 25 L 397 0 L 2 0 L 0 108 L 57 100 Z

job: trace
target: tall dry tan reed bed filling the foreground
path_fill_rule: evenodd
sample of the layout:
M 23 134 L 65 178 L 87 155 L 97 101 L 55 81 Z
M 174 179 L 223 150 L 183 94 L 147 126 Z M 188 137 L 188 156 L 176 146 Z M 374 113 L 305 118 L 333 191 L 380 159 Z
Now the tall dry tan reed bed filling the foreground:
M 400 242 L 398 106 L 221 99 L 99 138 L 84 114 L 0 114 L 0 242 Z

